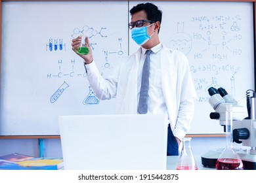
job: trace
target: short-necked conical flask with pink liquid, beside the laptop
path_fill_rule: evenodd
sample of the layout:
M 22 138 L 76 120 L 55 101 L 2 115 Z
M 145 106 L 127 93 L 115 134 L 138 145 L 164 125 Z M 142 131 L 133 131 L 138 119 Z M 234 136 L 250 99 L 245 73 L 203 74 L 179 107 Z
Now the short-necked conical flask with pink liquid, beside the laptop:
M 177 170 L 198 170 L 190 142 L 190 137 L 182 139 L 182 150 L 177 164 Z

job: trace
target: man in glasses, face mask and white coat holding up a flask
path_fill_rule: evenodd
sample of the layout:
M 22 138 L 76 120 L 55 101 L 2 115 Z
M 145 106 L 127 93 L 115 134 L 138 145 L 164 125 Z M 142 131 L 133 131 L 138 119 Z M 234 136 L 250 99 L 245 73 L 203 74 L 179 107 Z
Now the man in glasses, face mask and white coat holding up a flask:
M 188 60 L 181 52 L 169 50 L 161 44 L 158 33 L 162 12 L 158 7 L 152 3 L 141 3 L 131 8 L 130 13 L 131 36 L 141 47 L 123 59 L 110 76 L 104 79 L 98 72 L 88 38 L 90 53 L 79 56 L 85 61 L 87 78 L 96 96 L 100 99 L 117 98 L 117 114 L 166 114 L 169 120 L 167 156 L 178 155 L 181 139 L 190 128 L 196 97 Z M 74 52 L 80 42 L 81 37 L 72 40 Z M 149 54 L 148 90 L 142 86 L 146 83 L 142 82 L 146 50 L 152 50 Z M 148 107 L 145 112 L 140 112 L 140 94 L 142 96 L 145 91 Z

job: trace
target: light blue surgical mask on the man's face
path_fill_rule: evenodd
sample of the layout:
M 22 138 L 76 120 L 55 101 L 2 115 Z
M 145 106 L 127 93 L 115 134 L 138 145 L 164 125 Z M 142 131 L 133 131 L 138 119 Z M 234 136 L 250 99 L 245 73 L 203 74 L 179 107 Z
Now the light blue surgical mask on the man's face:
M 151 36 L 148 36 L 148 27 L 150 27 L 151 25 L 144 27 L 134 27 L 133 29 L 131 29 L 131 38 L 133 39 L 133 41 L 141 46 L 145 44 L 148 40 L 150 40 L 150 37 L 152 37 L 152 35 L 154 35 L 155 33 L 154 32 Z

